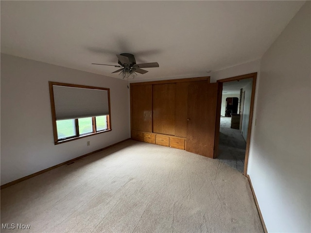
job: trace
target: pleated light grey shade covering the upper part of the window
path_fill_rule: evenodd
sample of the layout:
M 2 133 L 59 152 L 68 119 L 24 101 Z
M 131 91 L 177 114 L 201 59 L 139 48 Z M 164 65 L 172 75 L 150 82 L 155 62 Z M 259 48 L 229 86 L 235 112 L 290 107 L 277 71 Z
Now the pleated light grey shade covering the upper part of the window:
M 109 114 L 108 91 L 53 85 L 56 120 Z

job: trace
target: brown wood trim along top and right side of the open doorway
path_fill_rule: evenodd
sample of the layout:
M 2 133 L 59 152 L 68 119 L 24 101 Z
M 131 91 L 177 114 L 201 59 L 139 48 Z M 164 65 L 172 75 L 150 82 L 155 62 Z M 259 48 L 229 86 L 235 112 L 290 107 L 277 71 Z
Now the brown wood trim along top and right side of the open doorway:
M 250 105 L 250 109 L 249 109 L 249 120 L 248 120 L 248 129 L 247 129 L 245 159 L 244 159 L 244 172 L 243 172 L 244 176 L 247 175 L 247 165 L 248 165 L 248 155 L 249 155 L 249 146 L 250 146 L 250 140 L 251 140 L 251 132 L 252 132 L 252 121 L 253 121 L 253 112 L 254 112 L 254 100 L 255 100 L 257 72 L 217 80 L 217 83 L 225 83 L 225 82 L 238 81 L 238 80 L 249 79 L 249 78 L 253 79 L 253 83 L 252 83 L 251 105 Z

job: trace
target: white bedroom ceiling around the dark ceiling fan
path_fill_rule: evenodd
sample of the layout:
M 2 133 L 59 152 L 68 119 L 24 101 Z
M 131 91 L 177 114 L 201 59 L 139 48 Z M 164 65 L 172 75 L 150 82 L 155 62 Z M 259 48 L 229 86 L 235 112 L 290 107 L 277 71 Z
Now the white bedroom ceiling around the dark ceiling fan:
M 1 1 L 1 52 L 120 78 L 115 54 L 158 62 L 136 81 L 259 59 L 304 1 Z

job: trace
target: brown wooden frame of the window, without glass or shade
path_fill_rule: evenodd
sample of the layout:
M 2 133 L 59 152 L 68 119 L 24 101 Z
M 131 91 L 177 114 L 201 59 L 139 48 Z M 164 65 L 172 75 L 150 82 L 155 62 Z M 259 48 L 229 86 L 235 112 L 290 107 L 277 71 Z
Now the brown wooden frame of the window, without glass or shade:
M 106 90 L 108 91 L 108 109 L 109 109 L 109 115 L 106 116 L 107 121 L 107 129 L 96 131 L 96 116 L 90 116 L 92 117 L 92 128 L 93 131 L 91 133 L 84 133 L 79 134 L 79 120 L 78 118 L 74 119 L 74 125 L 75 125 L 75 133 L 76 135 L 70 136 L 64 139 L 58 139 L 57 134 L 57 125 L 56 125 L 56 112 L 55 112 L 55 104 L 54 104 L 54 93 L 53 93 L 53 85 L 60 85 L 60 86 L 69 86 L 69 87 L 77 87 L 77 88 L 87 88 L 87 89 L 97 89 L 97 90 Z M 78 85 L 78 84 L 69 84 L 69 83 L 58 83 L 58 82 L 49 82 L 49 88 L 50 88 L 50 101 L 51 101 L 51 112 L 52 112 L 52 125 L 53 125 L 53 137 L 54 137 L 54 145 L 74 141 L 80 138 L 89 137 L 95 134 L 100 133 L 106 133 L 111 131 L 111 112 L 110 112 L 110 89 L 104 88 L 104 87 L 95 87 L 95 86 L 86 86 L 86 85 Z

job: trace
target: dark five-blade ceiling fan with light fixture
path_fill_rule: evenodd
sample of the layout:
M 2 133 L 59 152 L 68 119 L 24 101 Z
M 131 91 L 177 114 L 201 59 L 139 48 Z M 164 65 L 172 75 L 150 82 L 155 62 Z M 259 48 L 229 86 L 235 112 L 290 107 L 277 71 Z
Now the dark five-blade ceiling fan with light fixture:
M 117 57 L 118 57 L 118 64 L 120 66 L 98 64 L 98 63 L 92 64 L 102 66 L 122 67 L 121 69 L 112 72 L 112 74 L 120 72 L 119 75 L 122 74 L 123 79 L 128 78 L 130 76 L 134 79 L 134 77 L 137 76 L 136 72 L 139 74 L 145 74 L 148 72 L 147 70 L 141 68 L 159 67 L 159 64 L 157 62 L 136 64 L 134 55 L 130 53 L 121 53 L 120 55 L 117 54 Z

